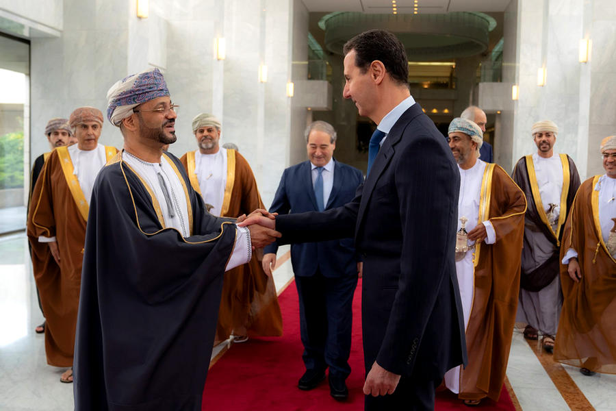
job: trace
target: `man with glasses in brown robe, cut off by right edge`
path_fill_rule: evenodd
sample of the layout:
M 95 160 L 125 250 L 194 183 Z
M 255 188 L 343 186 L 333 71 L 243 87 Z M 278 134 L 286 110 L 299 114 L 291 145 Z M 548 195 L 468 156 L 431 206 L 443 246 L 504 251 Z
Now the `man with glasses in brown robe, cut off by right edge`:
M 583 375 L 616 373 L 616 136 L 600 150 L 605 174 L 580 186 L 561 247 L 565 301 L 554 360 Z

